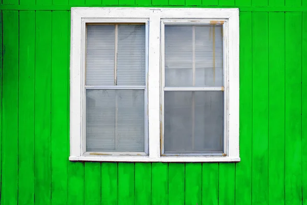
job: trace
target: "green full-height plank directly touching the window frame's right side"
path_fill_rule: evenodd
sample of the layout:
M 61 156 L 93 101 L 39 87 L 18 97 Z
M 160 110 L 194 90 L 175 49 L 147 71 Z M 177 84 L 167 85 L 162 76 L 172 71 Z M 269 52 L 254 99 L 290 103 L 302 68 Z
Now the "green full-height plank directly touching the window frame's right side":
M 240 12 L 240 158 L 235 167 L 235 204 L 252 193 L 252 12 Z

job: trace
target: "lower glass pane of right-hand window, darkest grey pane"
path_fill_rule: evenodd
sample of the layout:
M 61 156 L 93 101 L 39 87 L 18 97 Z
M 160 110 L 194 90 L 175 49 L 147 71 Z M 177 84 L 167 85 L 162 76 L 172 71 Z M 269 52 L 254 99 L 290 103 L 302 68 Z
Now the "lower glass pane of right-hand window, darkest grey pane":
M 165 153 L 223 151 L 223 92 L 165 91 Z

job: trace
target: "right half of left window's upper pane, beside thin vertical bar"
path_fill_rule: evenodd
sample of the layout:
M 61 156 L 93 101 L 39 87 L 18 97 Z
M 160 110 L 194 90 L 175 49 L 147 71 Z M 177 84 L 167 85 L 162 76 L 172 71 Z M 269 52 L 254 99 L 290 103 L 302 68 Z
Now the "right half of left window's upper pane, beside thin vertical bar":
M 145 25 L 118 26 L 117 85 L 145 85 Z

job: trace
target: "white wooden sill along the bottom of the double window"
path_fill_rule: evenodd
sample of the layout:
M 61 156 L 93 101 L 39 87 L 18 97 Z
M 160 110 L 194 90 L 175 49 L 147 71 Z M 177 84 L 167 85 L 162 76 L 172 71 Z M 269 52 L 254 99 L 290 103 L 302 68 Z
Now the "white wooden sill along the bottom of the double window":
M 123 162 L 239 162 L 239 157 L 229 156 L 191 156 L 191 157 L 156 157 L 148 156 L 70 156 L 70 161 L 123 161 Z

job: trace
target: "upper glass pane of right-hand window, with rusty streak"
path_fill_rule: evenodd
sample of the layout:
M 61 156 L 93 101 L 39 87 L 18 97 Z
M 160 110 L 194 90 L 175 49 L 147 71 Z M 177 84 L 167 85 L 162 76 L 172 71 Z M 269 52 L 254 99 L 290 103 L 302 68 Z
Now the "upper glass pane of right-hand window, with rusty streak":
M 165 86 L 223 86 L 222 25 L 165 25 Z

